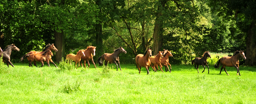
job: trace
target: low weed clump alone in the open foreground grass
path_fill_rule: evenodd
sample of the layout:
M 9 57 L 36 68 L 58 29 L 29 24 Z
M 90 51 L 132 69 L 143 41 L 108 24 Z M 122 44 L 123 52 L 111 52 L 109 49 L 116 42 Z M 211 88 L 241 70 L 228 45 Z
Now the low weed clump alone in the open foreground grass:
M 80 84 L 81 83 L 79 83 L 78 81 L 76 81 L 76 83 L 74 83 L 73 85 L 71 85 L 68 82 L 67 84 L 64 85 L 62 92 L 67 94 L 78 92 L 80 90 L 80 86 L 81 86 Z

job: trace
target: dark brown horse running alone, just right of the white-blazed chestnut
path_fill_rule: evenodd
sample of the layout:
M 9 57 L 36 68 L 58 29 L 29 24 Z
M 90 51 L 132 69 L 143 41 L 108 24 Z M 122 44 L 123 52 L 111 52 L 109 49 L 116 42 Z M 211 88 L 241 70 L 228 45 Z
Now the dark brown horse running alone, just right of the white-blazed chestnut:
M 114 50 L 114 53 L 112 53 L 112 54 L 104 53 L 102 56 L 100 56 L 98 58 L 99 66 L 102 66 L 103 65 L 102 61 L 105 60 L 105 62 L 104 62 L 105 66 L 107 66 L 108 63 L 109 64 L 115 63 L 116 64 L 116 71 L 118 71 L 118 66 L 121 70 L 120 62 L 119 62 L 119 54 L 120 53 L 126 54 L 126 51 L 121 46 L 119 48 L 117 48 L 116 50 Z

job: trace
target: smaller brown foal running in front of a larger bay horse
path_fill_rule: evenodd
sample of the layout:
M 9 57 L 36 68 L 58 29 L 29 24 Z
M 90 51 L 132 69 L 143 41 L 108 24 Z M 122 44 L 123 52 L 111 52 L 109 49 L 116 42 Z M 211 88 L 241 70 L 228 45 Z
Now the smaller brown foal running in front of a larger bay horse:
M 48 67 L 50 67 L 49 59 L 47 59 L 47 58 L 50 58 L 50 57 L 48 57 L 48 56 L 53 56 L 52 51 L 49 50 L 49 49 L 44 51 L 43 54 L 36 54 L 36 53 L 27 54 L 26 58 L 28 58 L 28 57 L 30 58 L 28 66 L 29 67 L 32 66 L 31 62 L 34 62 L 34 66 L 36 66 L 36 62 L 41 62 L 42 65 L 40 67 L 43 67 L 44 66 L 44 62 L 46 61 L 47 64 L 48 64 Z

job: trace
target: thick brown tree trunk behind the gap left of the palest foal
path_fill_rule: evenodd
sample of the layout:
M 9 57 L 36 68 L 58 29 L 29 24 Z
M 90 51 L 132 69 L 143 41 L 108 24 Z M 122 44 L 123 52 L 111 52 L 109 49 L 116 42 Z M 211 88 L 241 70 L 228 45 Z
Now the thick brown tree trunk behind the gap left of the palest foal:
M 58 49 L 56 52 L 56 62 L 59 63 L 62 57 L 65 56 L 65 45 L 64 45 L 64 33 L 63 30 L 61 32 L 57 32 L 54 30 L 55 44 L 54 46 Z

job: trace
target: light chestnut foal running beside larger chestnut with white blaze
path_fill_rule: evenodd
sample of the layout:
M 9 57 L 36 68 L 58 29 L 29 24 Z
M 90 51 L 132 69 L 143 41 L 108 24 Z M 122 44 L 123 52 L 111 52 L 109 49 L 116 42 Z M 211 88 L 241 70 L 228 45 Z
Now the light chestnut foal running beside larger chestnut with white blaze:
M 68 54 L 66 56 L 66 60 L 73 60 L 74 62 L 76 62 L 76 64 L 78 62 L 78 67 L 79 67 L 82 55 L 85 56 L 84 52 L 82 50 L 79 50 L 76 54 Z

